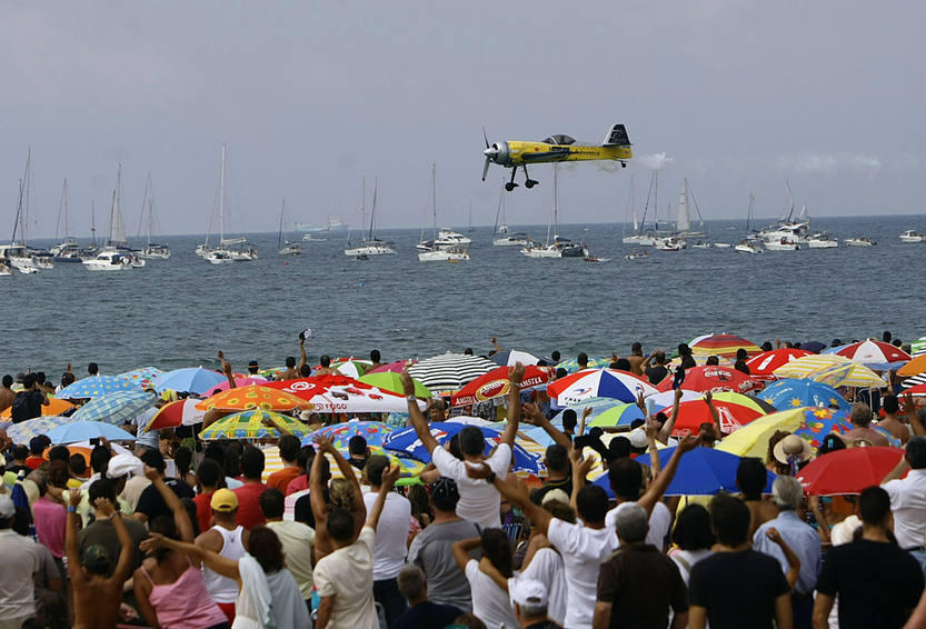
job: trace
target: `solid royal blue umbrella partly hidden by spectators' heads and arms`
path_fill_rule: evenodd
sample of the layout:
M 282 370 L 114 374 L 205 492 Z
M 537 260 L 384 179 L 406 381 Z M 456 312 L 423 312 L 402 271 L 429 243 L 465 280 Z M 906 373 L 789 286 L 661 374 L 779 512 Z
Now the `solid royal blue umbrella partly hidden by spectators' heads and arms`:
M 659 463 L 666 467 L 675 452 L 675 448 L 659 450 Z M 718 491 L 739 492 L 736 487 L 736 470 L 739 467 L 739 457 L 715 450 L 714 448 L 695 448 L 681 457 L 678 462 L 678 471 L 666 490 L 666 496 L 714 496 Z M 649 465 L 649 456 L 641 456 L 637 462 Z M 764 493 L 771 492 L 771 483 L 775 475 L 766 471 L 766 486 Z M 608 475 L 605 473 L 595 480 L 595 485 L 604 488 L 608 496 L 614 498 Z

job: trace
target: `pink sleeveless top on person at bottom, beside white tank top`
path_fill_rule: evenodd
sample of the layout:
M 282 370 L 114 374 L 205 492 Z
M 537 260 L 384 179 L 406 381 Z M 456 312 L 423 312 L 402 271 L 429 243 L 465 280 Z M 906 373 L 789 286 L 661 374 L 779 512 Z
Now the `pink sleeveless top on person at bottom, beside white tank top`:
M 189 559 L 188 559 L 189 561 Z M 145 566 L 141 572 L 151 581 L 148 600 L 163 629 L 207 629 L 227 622 L 228 618 L 206 591 L 202 570 L 192 563 L 172 583 L 157 585 Z

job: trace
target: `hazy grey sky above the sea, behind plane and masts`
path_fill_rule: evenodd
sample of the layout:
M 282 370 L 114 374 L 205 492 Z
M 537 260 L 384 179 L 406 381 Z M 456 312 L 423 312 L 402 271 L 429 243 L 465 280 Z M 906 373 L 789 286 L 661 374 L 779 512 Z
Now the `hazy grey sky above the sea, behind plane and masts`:
M 687 177 L 705 218 L 775 216 L 790 182 L 812 216 L 923 213 L 926 63 L 922 1 L 3 2 L 0 229 L 27 149 L 33 237 L 53 236 L 61 181 L 89 232 L 123 162 L 127 231 L 155 181 L 160 231 L 205 231 L 229 146 L 229 230 L 326 216 L 359 223 L 360 177 L 379 177 L 384 227 L 491 224 L 480 181 L 490 140 L 627 126 L 626 170 L 569 167 L 565 222 L 641 204 L 665 153 L 660 206 Z M 508 222 L 545 223 L 541 184 L 507 197 Z M 520 178 L 520 176 L 519 176 Z M 660 209 L 660 211 L 664 211 Z M 0 233 L 6 233 L 0 231 Z

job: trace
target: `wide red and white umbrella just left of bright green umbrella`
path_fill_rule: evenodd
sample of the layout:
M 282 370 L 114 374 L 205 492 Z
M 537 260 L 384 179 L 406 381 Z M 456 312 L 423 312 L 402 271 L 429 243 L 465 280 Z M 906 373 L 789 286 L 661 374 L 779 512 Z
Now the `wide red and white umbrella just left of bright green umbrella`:
M 408 412 L 405 396 L 338 373 L 268 382 L 267 386 L 305 400 L 315 412 Z M 426 408 L 425 402 L 419 401 L 418 408 Z

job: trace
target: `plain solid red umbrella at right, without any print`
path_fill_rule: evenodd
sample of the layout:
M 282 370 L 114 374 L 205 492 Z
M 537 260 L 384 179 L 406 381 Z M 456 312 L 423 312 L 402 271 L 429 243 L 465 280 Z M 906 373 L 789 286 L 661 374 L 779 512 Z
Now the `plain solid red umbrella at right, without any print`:
M 866 487 L 880 485 L 903 456 L 899 448 L 836 450 L 807 463 L 797 480 L 814 496 L 862 493 Z

